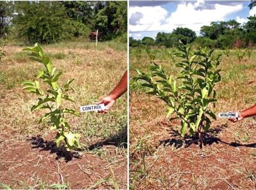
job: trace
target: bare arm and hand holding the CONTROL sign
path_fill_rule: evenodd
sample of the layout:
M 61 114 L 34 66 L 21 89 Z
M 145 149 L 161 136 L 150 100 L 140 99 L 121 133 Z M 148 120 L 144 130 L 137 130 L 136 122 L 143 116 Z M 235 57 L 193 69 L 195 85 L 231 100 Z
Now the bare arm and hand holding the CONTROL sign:
M 123 93 L 127 91 L 127 71 L 123 74 L 121 80 L 118 82 L 117 86 L 110 92 L 108 96 L 101 98 L 96 104 L 104 104 L 105 109 L 99 111 L 100 113 L 107 113 L 107 111 L 115 104 L 117 98 L 122 96 Z

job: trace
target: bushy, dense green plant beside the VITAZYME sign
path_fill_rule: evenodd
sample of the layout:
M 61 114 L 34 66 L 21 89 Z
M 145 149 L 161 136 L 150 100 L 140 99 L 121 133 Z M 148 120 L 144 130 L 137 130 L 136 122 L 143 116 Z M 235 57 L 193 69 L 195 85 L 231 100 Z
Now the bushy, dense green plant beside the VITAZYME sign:
M 210 128 L 209 117 L 216 119 L 210 105 L 215 105 L 217 101 L 214 86 L 221 80 L 221 69 L 217 69 L 222 61 L 221 55 L 214 56 L 214 49 L 192 52 L 191 47 L 186 47 L 181 41 L 178 49 L 181 53 L 176 55 L 182 60 L 175 66 L 181 67 L 182 71 L 177 78 L 167 77 L 161 65 L 153 62 L 149 72 L 137 70 L 136 79 L 145 81 L 142 86 L 151 89 L 148 94 L 166 102 L 167 117 L 175 113 L 173 119 L 181 119 L 182 137 L 185 137 L 187 131 L 189 135 L 199 133 L 202 147 L 201 133 Z

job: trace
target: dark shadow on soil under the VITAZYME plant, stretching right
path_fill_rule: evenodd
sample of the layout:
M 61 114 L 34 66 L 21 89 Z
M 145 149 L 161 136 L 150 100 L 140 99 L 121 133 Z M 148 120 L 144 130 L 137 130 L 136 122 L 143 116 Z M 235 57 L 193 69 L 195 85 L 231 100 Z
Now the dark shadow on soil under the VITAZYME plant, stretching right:
M 229 144 L 229 146 L 234 146 L 234 147 L 239 147 L 239 146 L 244 146 L 244 147 L 252 147 L 256 148 L 256 143 L 251 143 L 251 144 L 241 144 L 239 142 L 225 142 L 219 139 L 218 137 L 215 137 L 218 133 L 220 133 L 223 129 L 227 127 L 226 124 L 223 124 L 221 126 L 217 126 L 215 129 L 210 129 L 207 131 L 207 133 L 202 133 L 202 141 L 203 141 L 203 146 L 206 145 L 211 145 L 213 143 L 224 143 L 224 144 Z M 174 138 L 171 139 L 166 139 L 164 141 L 159 141 L 159 144 L 156 148 L 159 146 L 174 146 L 175 148 L 181 148 L 184 146 L 185 148 L 189 147 L 191 144 L 200 144 L 199 142 L 199 134 L 194 134 L 193 136 L 186 135 L 184 138 L 181 137 L 181 134 L 179 133 L 178 130 L 171 130 L 170 132 L 171 136 Z

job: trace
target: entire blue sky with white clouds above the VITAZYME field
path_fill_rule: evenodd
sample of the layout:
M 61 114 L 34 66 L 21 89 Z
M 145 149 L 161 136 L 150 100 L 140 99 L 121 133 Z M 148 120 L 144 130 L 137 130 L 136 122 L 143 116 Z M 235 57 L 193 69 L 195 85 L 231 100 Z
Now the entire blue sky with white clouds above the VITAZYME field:
M 158 32 L 171 32 L 187 27 L 199 35 L 200 28 L 214 21 L 235 19 L 243 24 L 247 16 L 256 14 L 249 9 L 250 1 L 130 1 L 129 32 L 135 39 L 155 38 Z

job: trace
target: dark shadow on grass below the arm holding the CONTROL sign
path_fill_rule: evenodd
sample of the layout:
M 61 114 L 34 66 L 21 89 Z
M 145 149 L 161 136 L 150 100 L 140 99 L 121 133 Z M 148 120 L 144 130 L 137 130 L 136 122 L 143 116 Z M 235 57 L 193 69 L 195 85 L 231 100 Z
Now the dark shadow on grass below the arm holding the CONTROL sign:
M 104 141 L 91 144 L 91 146 L 88 147 L 88 150 L 91 151 L 107 145 L 127 148 L 127 127 L 124 127 L 118 134 L 115 134 Z

